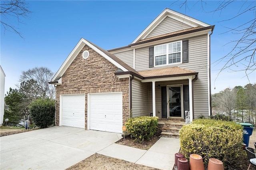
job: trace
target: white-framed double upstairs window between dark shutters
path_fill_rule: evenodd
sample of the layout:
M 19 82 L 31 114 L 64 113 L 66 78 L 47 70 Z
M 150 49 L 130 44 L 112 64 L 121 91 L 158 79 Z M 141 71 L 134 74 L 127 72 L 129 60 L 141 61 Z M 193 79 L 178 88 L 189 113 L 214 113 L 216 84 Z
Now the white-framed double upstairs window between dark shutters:
M 181 63 L 181 49 L 181 41 L 155 46 L 155 66 Z

